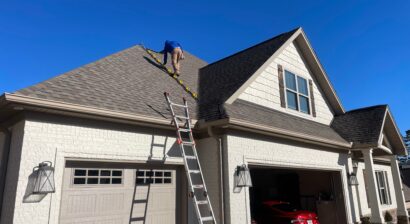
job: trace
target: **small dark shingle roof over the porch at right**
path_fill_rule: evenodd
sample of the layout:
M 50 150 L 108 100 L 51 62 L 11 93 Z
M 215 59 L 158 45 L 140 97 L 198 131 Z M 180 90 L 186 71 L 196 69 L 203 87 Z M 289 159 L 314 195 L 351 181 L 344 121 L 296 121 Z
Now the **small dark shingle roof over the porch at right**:
M 377 145 L 387 105 L 366 107 L 336 116 L 331 127 L 353 145 Z

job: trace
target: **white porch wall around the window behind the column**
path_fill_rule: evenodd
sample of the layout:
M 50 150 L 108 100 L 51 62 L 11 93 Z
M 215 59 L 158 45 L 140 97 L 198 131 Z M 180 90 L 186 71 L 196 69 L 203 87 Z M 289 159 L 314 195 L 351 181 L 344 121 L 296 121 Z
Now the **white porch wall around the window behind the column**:
M 364 176 L 363 176 L 364 169 L 365 169 L 364 163 L 360 162 L 358 169 L 357 169 L 357 180 L 359 181 L 359 185 L 356 188 L 356 193 L 358 195 L 357 198 L 359 202 L 360 216 L 369 216 L 371 212 L 370 212 L 370 207 L 367 203 L 366 187 L 364 184 Z M 390 165 L 382 165 L 382 164 L 375 163 L 374 169 L 376 171 L 386 171 L 387 172 L 387 178 L 388 178 L 388 183 L 389 183 L 392 204 L 382 205 L 381 206 L 382 210 L 386 211 L 386 210 L 396 209 L 397 208 L 396 194 L 394 192 L 394 182 L 393 182 L 393 176 L 392 176 Z

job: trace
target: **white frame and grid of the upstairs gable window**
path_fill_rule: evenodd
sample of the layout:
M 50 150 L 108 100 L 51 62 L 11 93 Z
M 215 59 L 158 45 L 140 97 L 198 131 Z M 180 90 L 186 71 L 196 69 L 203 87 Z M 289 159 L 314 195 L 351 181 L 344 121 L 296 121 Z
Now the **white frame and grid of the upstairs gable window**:
M 307 116 L 312 116 L 312 98 L 311 98 L 311 96 L 310 96 L 310 86 L 309 86 L 309 79 L 306 77 L 306 76 L 303 76 L 303 75 L 298 75 L 296 72 L 293 72 L 292 70 L 290 70 L 290 69 L 284 69 L 283 70 L 284 72 L 283 72 L 283 81 L 284 81 L 284 90 L 285 90 L 285 103 L 286 103 L 286 109 L 290 109 L 290 110 L 292 110 L 292 111 L 297 111 L 297 112 L 299 112 L 299 113 L 302 113 L 302 114 L 304 114 L 304 115 L 307 115 Z M 290 89 L 290 88 L 288 88 L 288 83 L 287 83 L 287 79 L 286 79 L 286 73 L 291 73 L 291 74 L 293 74 L 294 76 L 295 76 L 295 85 L 296 85 L 296 91 L 295 90 L 293 90 L 293 89 Z M 298 83 L 298 78 L 302 78 L 302 79 L 304 79 L 305 81 L 306 81 L 306 89 L 307 89 L 307 95 L 305 95 L 305 94 L 303 94 L 303 93 L 301 93 L 301 92 L 299 92 L 299 83 Z M 288 94 L 287 94 L 287 92 L 292 92 L 292 93 L 294 93 L 294 94 L 296 94 L 296 103 L 297 103 L 297 109 L 293 109 L 293 108 L 290 108 L 289 107 L 289 101 L 288 101 Z M 308 112 L 306 113 L 306 112 L 304 112 L 304 111 L 302 111 L 301 109 L 300 109 L 300 99 L 299 99 L 299 97 L 300 96 L 302 96 L 302 97 L 305 97 L 305 98 L 307 98 L 308 99 Z

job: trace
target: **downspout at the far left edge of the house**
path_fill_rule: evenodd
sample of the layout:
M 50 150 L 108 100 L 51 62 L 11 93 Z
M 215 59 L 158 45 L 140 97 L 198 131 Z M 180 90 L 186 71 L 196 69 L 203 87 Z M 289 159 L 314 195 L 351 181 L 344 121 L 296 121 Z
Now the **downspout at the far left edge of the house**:
M 4 145 L 0 161 L 0 219 L 2 217 L 3 198 L 6 188 L 7 167 L 9 162 L 11 131 L 0 125 L 0 132 L 4 134 Z

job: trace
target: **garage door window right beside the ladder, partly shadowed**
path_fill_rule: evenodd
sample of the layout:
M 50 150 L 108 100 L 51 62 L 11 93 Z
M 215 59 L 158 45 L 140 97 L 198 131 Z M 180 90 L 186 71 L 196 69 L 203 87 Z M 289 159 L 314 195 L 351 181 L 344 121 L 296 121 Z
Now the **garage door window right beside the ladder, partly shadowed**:
M 137 170 L 137 184 L 171 184 L 172 171 Z

